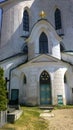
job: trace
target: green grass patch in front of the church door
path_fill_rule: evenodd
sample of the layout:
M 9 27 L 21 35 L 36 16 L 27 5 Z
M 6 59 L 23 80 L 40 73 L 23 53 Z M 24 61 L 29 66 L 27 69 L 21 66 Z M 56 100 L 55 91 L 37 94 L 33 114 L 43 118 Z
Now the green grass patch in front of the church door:
M 48 124 L 39 117 L 43 110 L 37 107 L 22 107 L 23 114 L 14 124 L 6 124 L 0 130 L 49 130 Z

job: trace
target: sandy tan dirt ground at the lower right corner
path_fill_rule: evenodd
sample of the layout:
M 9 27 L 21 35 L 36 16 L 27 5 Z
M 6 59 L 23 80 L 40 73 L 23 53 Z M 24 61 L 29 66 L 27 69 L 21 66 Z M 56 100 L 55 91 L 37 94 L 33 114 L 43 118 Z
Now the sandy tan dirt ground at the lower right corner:
M 73 130 L 73 109 L 54 110 L 54 117 L 47 118 L 49 130 Z

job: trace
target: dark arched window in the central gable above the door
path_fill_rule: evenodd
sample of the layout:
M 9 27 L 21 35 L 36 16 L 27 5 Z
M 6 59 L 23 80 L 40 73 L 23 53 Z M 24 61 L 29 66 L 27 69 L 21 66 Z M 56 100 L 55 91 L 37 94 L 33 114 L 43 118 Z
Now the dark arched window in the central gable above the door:
M 48 38 L 44 32 L 41 33 L 39 38 L 39 53 L 48 53 Z

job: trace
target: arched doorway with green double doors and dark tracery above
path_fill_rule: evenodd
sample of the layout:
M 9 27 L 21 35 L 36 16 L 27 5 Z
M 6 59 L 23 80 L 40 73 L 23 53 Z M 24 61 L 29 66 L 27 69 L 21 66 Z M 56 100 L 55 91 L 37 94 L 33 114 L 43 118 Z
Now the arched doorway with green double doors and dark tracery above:
M 46 71 L 43 71 L 40 75 L 40 105 L 50 105 L 51 103 L 50 76 Z

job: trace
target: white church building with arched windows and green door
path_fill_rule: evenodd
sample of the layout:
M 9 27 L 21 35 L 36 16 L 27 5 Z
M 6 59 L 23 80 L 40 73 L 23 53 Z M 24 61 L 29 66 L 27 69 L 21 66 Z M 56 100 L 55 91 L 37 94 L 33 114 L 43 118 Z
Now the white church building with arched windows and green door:
M 13 104 L 73 104 L 73 1 L 6 0 L 0 67 Z

